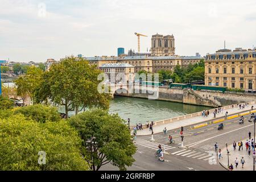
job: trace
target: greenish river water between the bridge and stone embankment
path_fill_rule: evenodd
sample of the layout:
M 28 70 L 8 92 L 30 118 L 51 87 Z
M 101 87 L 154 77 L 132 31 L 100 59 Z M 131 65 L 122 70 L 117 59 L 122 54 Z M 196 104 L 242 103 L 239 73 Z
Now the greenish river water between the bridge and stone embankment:
M 196 113 L 212 107 L 195 106 L 168 101 L 147 100 L 143 98 L 114 96 L 110 101 L 110 113 L 118 113 L 119 116 L 130 123 L 146 123 L 158 121 L 180 115 Z

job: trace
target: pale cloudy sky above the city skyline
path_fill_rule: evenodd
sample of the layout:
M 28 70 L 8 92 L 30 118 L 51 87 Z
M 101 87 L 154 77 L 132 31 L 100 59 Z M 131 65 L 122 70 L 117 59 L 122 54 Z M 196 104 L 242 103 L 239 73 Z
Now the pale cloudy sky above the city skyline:
M 176 55 L 256 46 L 255 0 L 0 0 L 0 60 L 46 61 L 141 52 L 151 36 L 174 35 Z

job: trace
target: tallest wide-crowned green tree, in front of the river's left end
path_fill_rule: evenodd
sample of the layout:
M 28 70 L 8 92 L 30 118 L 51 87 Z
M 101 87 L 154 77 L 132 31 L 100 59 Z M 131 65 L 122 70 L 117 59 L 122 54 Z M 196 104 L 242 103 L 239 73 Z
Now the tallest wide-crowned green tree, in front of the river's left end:
M 75 110 L 78 114 L 79 109 L 85 110 L 86 107 L 108 109 L 110 94 L 101 94 L 97 89 L 101 82 L 97 80 L 100 73 L 96 65 L 89 65 L 88 61 L 67 57 L 44 73 L 43 81 L 36 91 L 37 101 L 50 98 L 65 107 L 66 117 L 69 110 Z

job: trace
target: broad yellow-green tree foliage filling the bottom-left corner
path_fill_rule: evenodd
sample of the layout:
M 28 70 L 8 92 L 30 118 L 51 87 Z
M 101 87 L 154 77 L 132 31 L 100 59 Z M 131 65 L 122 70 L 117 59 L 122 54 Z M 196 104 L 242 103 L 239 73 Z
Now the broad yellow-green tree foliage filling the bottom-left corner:
M 66 121 L 39 123 L 23 115 L 0 119 L 0 168 L 8 171 L 88 170 L 81 139 Z M 46 164 L 39 164 L 39 151 Z

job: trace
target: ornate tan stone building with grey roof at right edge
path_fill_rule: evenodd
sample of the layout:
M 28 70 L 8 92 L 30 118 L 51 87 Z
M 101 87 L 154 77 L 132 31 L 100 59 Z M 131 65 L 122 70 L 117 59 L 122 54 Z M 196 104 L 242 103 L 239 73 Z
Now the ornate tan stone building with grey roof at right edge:
M 256 50 L 220 49 L 205 60 L 205 85 L 256 91 Z

